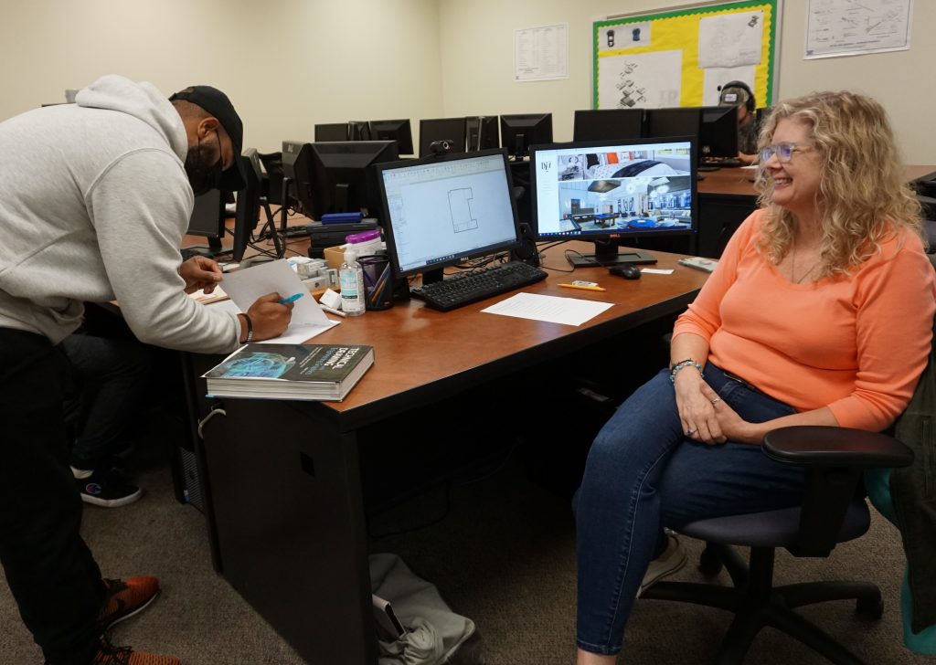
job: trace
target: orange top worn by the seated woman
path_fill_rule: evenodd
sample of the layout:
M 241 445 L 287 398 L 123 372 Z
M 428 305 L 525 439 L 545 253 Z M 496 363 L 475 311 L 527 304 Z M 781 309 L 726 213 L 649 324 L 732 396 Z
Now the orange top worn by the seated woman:
M 709 341 L 709 361 L 799 412 L 880 431 L 906 408 L 927 363 L 936 280 L 912 232 L 845 278 L 796 284 L 757 249 L 765 210 L 728 242 L 674 337 Z

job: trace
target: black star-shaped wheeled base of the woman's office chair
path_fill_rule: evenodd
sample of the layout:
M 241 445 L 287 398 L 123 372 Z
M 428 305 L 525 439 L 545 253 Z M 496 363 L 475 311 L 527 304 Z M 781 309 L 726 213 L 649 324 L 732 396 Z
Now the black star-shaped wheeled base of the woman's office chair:
M 712 557 L 721 557 L 724 545 L 709 544 L 706 572 L 712 570 Z M 732 552 L 730 557 L 737 557 Z M 838 665 L 865 665 L 851 651 L 822 629 L 814 626 L 794 611 L 794 608 L 826 600 L 856 600 L 856 612 L 866 618 L 880 618 L 884 610 L 881 591 L 877 586 L 860 582 L 817 582 L 774 587 L 771 548 L 752 548 L 751 571 L 745 575 L 737 570 L 737 562 L 722 559 L 736 586 L 716 586 L 688 582 L 658 582 L 648 588 L 642 599 L 677 600 L 725 610 L 735 618 L 722 640 L 714 659 L 715 665 L 739 665 L 744 661 L 760 629 L 782 630 L 806 644 L 829 661 Z M 735 570 L 733 570 L 735 569 Z

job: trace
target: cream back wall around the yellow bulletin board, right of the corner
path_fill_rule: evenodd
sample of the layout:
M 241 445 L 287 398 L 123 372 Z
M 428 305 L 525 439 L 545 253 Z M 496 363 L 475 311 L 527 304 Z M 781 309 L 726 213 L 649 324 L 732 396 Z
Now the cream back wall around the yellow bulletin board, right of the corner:
M 572 138 L 577 108 L 591 108 L 592 22 L 691 4 L 679 0 L 438 0 L 443 99 L 449 116 L 551 111 L 556 140 Z M 783 0 L 777 98 L 854 90 L 885 105 L 904 161 L 936 164 L 936 2 L 916 0 L 911 50 L 803 60 L 807 0 Z M 569 78 L 515 83 L 513 31 L 569 25 Z

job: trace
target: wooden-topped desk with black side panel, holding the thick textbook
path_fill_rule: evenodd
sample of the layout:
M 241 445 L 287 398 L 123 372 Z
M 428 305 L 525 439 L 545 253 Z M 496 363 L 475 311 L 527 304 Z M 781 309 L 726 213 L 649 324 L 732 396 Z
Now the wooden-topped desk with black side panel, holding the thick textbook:
M 549 250 L 547 265 L 567 270 L 565 247 Z M 481 312 L 506 296 L 446 313 L 411 301 L 344 319 L 315 338 L 375 348 L 373 368 L 344 402 L 225 399 L 226 414 L 207 421 L 200 445 L 217 569 L 309 662 L 376 663 L 359 432 L 682 311 L 708 275 L 677 266 L 678 255 L 656 254 L 656 267 L 673 274 L 627 281 L 578 268 L 576 279 L 607 292 L 570 294 L 557 286 L 569 279 L 560 272 L 523 289 L 615 303 L 584 325 Z M 189 359 L 196 376 L 217 360 Z M 203 419 L 212 400 L 202 380 L 193 395 Z

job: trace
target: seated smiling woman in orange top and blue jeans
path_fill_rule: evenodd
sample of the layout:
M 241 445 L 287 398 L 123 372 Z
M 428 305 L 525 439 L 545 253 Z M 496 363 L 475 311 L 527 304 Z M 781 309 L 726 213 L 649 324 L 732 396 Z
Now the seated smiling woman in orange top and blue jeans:
M 614 663 L 636 596 L 685 562 L 664 527 L 799 504 L 763 455 L 793 425 L 880 431 L 927 363 L 936 280 L 884 108 L 774 107 L 755 211 L 680 315 L 671 363 L 592 443 L 578 491 L 578 663 Z

